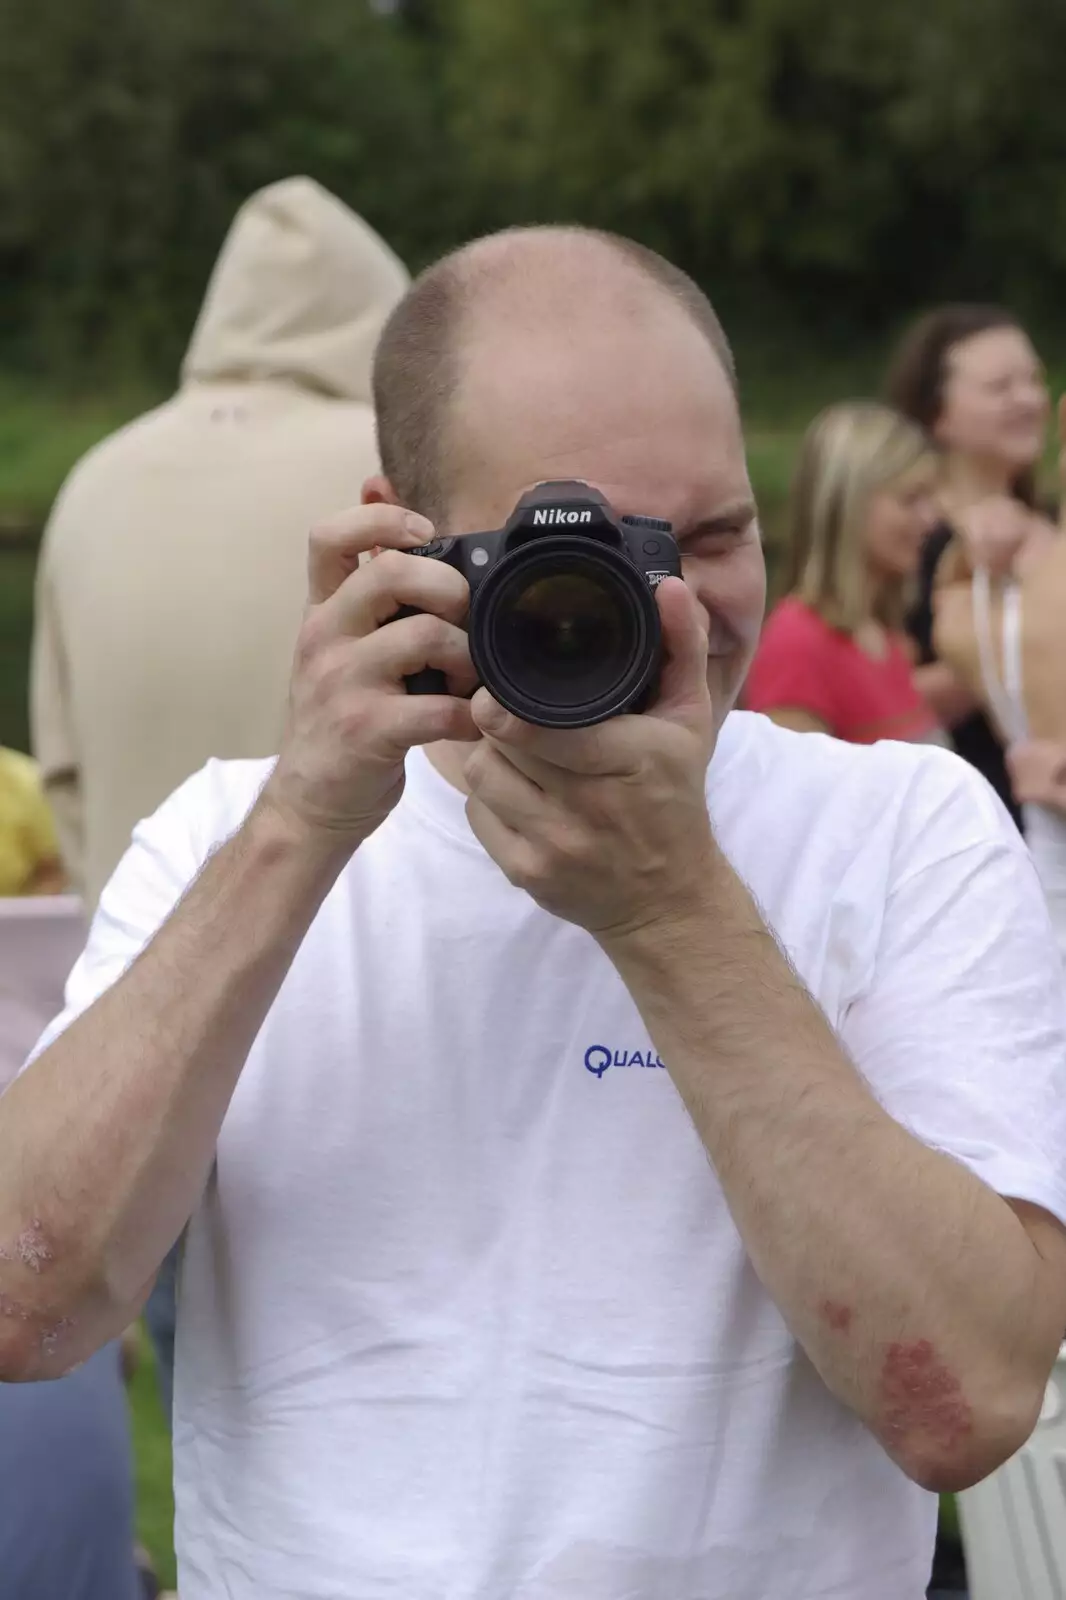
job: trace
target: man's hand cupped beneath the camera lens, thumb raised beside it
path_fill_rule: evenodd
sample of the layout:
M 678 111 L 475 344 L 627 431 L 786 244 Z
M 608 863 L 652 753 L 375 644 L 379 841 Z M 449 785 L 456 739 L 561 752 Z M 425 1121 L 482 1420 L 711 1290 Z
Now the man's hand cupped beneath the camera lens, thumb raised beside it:
M 715 722 L 707 632 L 680 579 L 658 589 L 656 704 L 595 728 L 533 728 L 482 690 L 466 762 L 471 827 L 507 878 L 595 938 L 683 910 L 714 840 L 706 774 Z

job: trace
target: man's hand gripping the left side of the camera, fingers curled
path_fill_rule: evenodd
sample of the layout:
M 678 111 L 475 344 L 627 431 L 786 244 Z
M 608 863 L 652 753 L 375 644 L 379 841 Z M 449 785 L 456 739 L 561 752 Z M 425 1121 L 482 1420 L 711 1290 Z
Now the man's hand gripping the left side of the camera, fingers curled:
M 466 699 L 477 685 L 463 627 L 469 586 L 451 566 L 403 554 L 432 531 L 424 517 L 373 504 L 311 536 L 288 720 L 259 803 L 315 838 L 357 848 L 400 798 L 411 746 L 479 738 Z M 397 618 L 402 606 L 423 614 Z M 450 693 L 408 696 L 403 678 L 423 667 L 442 670 Z

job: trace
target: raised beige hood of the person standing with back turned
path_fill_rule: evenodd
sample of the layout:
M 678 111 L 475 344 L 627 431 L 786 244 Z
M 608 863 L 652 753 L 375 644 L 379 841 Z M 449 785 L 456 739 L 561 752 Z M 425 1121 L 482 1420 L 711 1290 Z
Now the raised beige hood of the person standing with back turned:
M 311 178 L 271 184 L 226 237 L 182 382 L 282 381 L 370 405 L 375 346 L 408 283 L 384 240 Z

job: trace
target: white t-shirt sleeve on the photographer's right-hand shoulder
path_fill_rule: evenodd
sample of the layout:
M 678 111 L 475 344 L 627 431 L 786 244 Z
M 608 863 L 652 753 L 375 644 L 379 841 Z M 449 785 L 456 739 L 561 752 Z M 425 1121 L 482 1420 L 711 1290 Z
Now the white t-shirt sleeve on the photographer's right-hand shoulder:
M 1066 1224 L 1066 974 L 1028 851 L 984 781 L 924 752 L 872 971 L 844 1043 L 884 1107 Z

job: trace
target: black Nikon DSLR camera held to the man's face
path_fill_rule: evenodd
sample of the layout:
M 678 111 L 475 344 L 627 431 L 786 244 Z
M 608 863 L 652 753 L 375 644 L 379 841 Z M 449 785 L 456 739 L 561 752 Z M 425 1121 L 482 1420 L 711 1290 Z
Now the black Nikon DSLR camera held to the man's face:
M 661 656 L 655 589 L 680 578 L 669 522 L 616 517 L 587 483 L 538 483 L 506 528 L 410 554 L 448 562 L 469 582 L 474 667 L 515 717 L 589 728 L 648 704 Z M 447 693 L 432 667 L 407 688 Z

